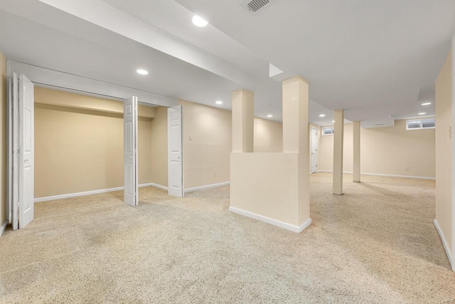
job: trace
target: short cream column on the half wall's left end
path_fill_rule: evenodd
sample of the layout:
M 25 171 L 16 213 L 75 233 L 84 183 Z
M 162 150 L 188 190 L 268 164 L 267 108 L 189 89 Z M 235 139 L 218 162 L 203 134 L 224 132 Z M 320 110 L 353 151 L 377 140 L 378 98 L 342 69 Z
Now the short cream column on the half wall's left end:
M 247 90 L 232 92 L 232 152 L 253 152 L 255 95 Z

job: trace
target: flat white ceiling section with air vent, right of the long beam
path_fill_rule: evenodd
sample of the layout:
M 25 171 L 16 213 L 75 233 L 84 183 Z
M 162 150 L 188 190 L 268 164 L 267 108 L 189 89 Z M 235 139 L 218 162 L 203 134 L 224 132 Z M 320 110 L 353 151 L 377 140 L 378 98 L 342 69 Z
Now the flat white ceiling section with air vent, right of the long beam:
M 431 91 L 455 31 L 453 0 L 274 0 L 256 16 L 240 1 L 176 1 L 286 75 L 309 79 L 311 99 L 350 120 L 405 115 L 432 100 L 419 92 Z

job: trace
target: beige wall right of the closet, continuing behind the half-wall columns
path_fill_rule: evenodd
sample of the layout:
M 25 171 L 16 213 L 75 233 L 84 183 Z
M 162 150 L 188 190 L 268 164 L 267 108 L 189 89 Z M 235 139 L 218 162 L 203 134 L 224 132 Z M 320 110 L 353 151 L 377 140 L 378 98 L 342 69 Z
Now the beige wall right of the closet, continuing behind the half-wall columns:
M 178 104 L 183 107 L 185 189 L 229 182 L 232 112 L 185 100 Z M 254 147 L 255 152 L 282 152 L 282 124 L 255 117 Z

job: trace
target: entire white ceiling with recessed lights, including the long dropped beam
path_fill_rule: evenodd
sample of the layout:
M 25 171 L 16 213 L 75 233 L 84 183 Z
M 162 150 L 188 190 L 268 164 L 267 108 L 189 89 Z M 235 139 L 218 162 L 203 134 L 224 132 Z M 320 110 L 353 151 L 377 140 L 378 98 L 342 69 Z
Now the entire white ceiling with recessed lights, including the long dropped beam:
M 0 48 L 14 61 L 226 109 L 232 90 L 247 88 L 255 115 L 278 121 L 281 83 L 269 63 L 309 79 L 319 125 L 338 108 L 377 122 L 415 117 L 430 101 L 434 115 L 455 1 L 275 2 L 252 16 L 232 0 L 2 0 Z M 210 24 L 193 26 L 193 12 Z

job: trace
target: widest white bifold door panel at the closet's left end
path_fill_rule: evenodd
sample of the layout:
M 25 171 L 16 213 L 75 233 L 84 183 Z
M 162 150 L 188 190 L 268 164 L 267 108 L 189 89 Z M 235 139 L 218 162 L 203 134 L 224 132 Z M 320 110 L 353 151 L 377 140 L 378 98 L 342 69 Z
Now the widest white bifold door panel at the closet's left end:
M 19 228 L 33 220 L 34 191 L 34 101 L 33 83 L 24 75 L 19 75 Z

